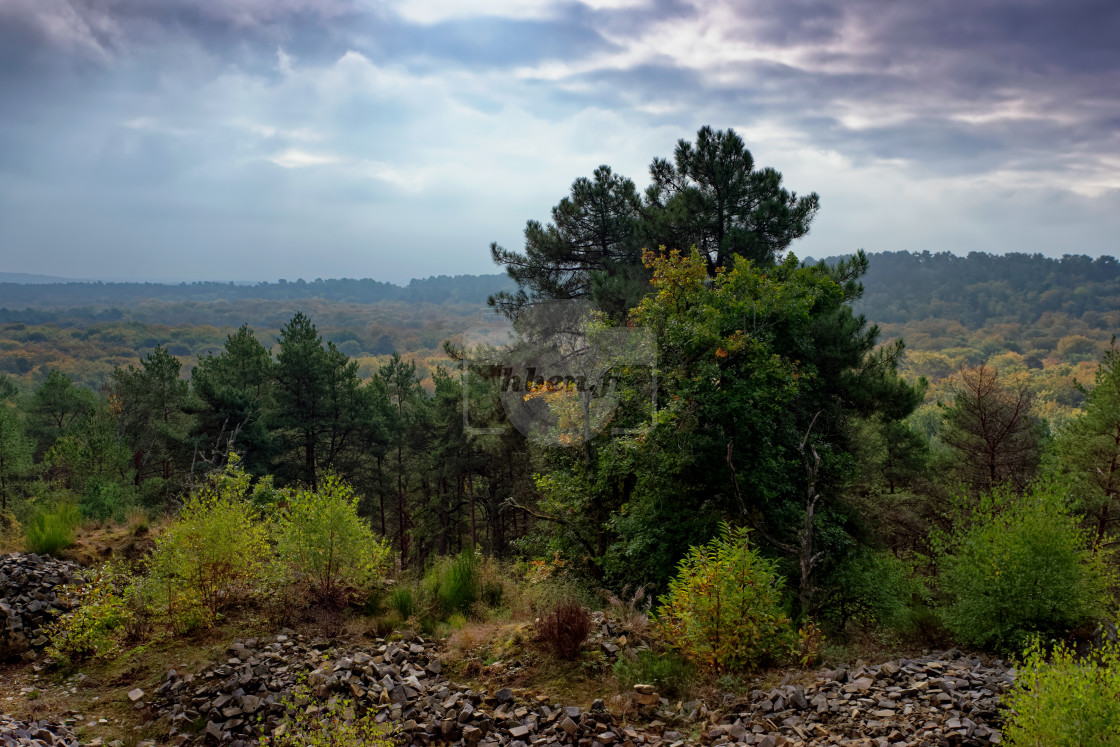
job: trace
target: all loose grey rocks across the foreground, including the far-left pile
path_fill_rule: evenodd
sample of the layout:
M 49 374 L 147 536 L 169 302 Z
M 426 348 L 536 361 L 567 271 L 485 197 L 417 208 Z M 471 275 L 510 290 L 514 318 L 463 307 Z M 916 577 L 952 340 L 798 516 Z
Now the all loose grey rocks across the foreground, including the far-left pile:
M 45 643 L 44 624 L 65 606 L 59 587 L 80 579 L 76 563 L 34 554 L 0 557 L 0 643 L 9 656 L 27 661 L 36 655 Z M 642 645 L 615 635 L 610 620 L 599 614 L 596 623 L 589 645 L 608 657 Z M 1001 662 L 952 650 L 791 675 L 771 690 L 707 703 L 672 702 L 652 685 L 640 684 L 607 703 L 597 700 L 581 708 L 531 690 L 456 683 L 445 675 L 442 653 L 440 645 L 419 636 L 342 644 L 283 631 L 235 639 L 220 661 L 194 673 L 171 670 L 151 692 L 125 682 L 119 698 L 125 719 L 132 712 L 137 723 L 166 725 L 158 744 L 169 745 L 255 745 L 283 729 L 291 693 L 305 687 L 316 703 L 311 708 L 348 699 L 358 712 L 392 727 L 401 745 L 933 747 L 999 744 L 999 700 L 1014 680 L 1014 671 Z M 40 697 L 45 675 L 30 676 L 3 698 L 6 703 Z M 84 675 L 59 685 L 64 698 L 77 692 L 75 678 Z M 9 679 L 15 687 L 15 678 Z M 76 746 L 74 728 L 108 723 L 87 720 L 87 715 L 54 722 L 0 716 L 0 747 Z

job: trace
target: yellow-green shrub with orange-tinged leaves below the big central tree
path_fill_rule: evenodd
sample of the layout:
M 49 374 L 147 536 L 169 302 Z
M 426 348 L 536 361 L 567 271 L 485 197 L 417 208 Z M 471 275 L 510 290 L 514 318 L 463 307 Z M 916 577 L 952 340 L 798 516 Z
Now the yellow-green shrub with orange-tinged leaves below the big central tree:
M 776 563 L 750 548 L 747 530 L 725 523 L 719 536 L 681 560 L 660 598 L 655 626 L 702 666 L 757 669 L 787 655 L 793 645 L 781 609 L 782 587 Z

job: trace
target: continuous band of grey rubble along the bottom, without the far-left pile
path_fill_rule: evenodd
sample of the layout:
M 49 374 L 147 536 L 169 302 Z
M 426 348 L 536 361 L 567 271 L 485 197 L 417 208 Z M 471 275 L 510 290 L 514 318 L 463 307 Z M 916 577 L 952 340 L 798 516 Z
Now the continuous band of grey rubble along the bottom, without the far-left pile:
M 172 725 L 172 744 L 255 744 L 280 727 L 284 694 L 306 682 L 319 702 L 348 698 L 396 728 L 403 745 L 990 745 L 998 703 L 1012 681 L 1002 664 L 956 651 L 855 670 L 821 671 L 808 683 L 755 691 L 710 707 L 672 703 L 650 685 L 590 709 L 508 688 L 475 690 L 442 675 L 438 646 L 416 637 L 335 650 L 293 634 L 235 642 L 228 659 L 198 674 L 169 672 L 149 698 Z M 187 727 L 203 727 L 186 734 Z

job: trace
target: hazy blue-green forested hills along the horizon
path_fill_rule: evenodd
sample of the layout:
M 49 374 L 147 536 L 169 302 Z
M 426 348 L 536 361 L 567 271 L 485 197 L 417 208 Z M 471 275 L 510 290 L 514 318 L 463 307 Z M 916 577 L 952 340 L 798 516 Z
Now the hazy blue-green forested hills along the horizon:
M 836 262 L 840 258 L 829 258 Z M 1112 256 L 1092 259 L 1042 254 L 986 254 L 959 256 L 949 252 L 884 252 L 870 255 L 864 278 L 864 298 L 857 310 L 878 324 L 904 325 L 941 318 L 977 329 L 992 324 L 1033 325 L 1043 315 L 1082 319 L 1096 329 L 1116 329 L 1120 314 L 1120 262 Z M 513 282 L 504 274 L 432 276 L 408 286 L 343 278 L 254 284 L 190 282 L 4 282 L 18 273 L 0 274 L 0 323 L 44 324 L 77 314 L 94 321 L 143 319 L 180 324 L 172 317 L 190 305 L 194 324 L 226 307 L 230 314 L 246 301 L 291 307 L 309 301 L 347 305 L 478 306 Z M 224 302 L 224 304 L 220 304 Z M 157 315 L 157 307 L 164 312 Z M 143 312 L 141 314 L 141 309 Z M 72 312 L 67 312 L 72 310 Z M 223 314 L 214 324 L 228 324 Z

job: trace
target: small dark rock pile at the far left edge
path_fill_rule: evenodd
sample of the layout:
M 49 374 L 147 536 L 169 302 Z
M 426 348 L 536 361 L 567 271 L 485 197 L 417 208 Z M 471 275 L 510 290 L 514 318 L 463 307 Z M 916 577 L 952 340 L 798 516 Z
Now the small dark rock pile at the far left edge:
M 0 555 L 0 661 L 22 656 L 47 644 L 44 626 L 68 609 L 59 587 L 81 582 L 82 567 L 49 555 L 12 552 Z

